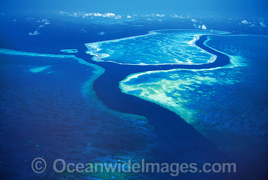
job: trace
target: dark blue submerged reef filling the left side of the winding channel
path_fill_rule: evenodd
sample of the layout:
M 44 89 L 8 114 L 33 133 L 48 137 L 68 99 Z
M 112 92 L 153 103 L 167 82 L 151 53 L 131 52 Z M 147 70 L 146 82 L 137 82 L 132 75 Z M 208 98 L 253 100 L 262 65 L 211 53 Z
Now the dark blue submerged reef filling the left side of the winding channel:
M 34 179 L 31 162 L 36 157 L 44 158 L 50 165 L 58 158 L 102 163 L 153 159 L 155 135 L 148 120 L 112 110 L 96 96 L 93 82 L 104 72 L 103 68 L 74 55 L 7 49 L 0 49 L 0 53 L 4 70 L 1 84 L 5 85 L 0 90 L 4 97 L 1 118 L 5 120 L 0 130 L 12 139 L 10 146 L 1 144 L 5 147 L 1 160 L 12 166 L 3 169 L 7 176 Z M 18 162 L 17 157 L 22 163 L 13 163 Z M 14 169 L 29 174 L 14 175 Z M 46 171 L 48 175 L 44 173 L 44 177 L 52 177 L 52 171 Z M 91 176 L 108 179 L 112 175 Z M 121 180 L 130 175 L 113 176 Z

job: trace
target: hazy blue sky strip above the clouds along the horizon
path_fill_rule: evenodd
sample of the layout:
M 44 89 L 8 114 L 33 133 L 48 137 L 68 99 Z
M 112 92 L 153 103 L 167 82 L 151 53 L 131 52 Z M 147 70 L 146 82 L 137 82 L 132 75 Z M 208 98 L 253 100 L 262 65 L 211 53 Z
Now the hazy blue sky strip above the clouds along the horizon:
M 1 12 L 89 12 L 267 18 L 268 0 L 0 0 Z

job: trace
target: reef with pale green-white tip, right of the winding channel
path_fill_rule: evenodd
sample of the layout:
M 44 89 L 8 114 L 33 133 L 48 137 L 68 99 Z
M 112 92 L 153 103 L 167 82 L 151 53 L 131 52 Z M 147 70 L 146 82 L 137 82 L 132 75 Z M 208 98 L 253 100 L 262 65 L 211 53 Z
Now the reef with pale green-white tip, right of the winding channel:
M 131 74 L 120 82 L 122 92 L 171 109 L 221 149 L 265 151 L 268 37 L 211 36 L 206 44 L 231 64 Z

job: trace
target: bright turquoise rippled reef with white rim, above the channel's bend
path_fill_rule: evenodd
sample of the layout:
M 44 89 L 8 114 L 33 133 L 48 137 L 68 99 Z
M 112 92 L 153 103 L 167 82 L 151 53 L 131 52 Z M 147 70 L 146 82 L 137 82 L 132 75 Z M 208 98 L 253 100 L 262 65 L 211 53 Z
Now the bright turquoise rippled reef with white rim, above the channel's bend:
M 194 45 L 198 35 L 225 34 L 221 31 L 159 30 L 147 35 L 88 43 L 88 54 L 95 61 L 120 64 L 204 64 L 215 55 Z

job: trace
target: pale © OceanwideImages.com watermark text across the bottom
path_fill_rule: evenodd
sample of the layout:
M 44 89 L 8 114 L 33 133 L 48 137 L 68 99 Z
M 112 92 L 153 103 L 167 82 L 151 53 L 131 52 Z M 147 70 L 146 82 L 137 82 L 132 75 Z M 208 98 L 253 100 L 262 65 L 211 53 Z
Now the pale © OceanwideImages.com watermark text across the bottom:
M 32 161 L 32 170 L 41 174 L 46 170 L 47 164 L 43 158 L 36 158 Z M 122 162 L 117 160 L 115 163 L 66 163 L 63 159 L 53 162 L 53 170 L 56 173 L 67 171 L 68 173 L 103 173 L 104 171 L 118 173 L 169 173 L 172 177 L 179 176 L 180 173 L 236 173 L 235 163 L 204 163 L 198 168 L 197 163 L 152 163 L 141 159 L 140 163 Z

